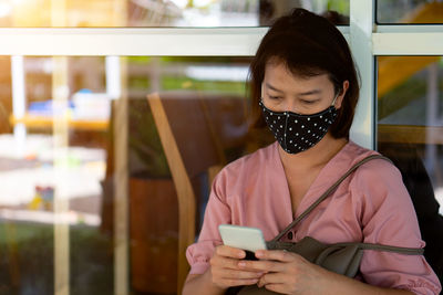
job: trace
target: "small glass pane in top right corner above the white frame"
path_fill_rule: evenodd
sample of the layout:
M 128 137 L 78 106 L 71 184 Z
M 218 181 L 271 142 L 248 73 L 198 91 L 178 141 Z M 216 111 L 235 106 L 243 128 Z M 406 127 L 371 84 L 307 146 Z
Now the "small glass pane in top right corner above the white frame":
M 377 0 L 378 23 L 443 23 L 443 2 Z

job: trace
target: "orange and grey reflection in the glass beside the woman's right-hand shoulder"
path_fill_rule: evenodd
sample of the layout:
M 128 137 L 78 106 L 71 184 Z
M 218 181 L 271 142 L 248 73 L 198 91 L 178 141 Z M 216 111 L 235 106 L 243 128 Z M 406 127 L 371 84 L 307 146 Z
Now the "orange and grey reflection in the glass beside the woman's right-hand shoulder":
M 416 149 L 443 204 L 442 57 L 380 56 L 378 64 L 379 144 Z

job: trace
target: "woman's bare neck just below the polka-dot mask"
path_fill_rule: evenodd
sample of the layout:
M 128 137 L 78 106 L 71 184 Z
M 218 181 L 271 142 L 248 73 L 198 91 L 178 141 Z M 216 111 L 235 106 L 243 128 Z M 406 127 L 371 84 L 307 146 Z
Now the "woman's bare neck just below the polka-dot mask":
M 306 170 L 324 166 L 348 143 L 346 138 L 333 138 L 329 133 L 313 147 L 298 154 L 288 154 L 280 146 L 278 151 L 284 167 Z

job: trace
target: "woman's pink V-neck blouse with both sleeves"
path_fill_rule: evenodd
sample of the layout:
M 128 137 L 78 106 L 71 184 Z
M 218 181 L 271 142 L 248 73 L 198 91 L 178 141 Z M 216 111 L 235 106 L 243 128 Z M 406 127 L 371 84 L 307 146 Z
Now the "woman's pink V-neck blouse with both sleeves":
M 269 241 L 353 164 L 372 154 L 377 152 L 348 143 L 320 171 L 296 212 L 277 143 L 227 165 L 214 180 L 198 242 L 187 249 L 190 274 L 202 274 L 209 267 L 215 246 L 222 244 L 219 224 L 259 228 Z M 401 175 L 382 159 L 358 168 L 281 241 L 297 242 L 306 235 L 323 243 L 424 246 Z M 439 278 L 422 255 L 365 250 L 360 272 L 361 280 L 371 285 L 415 294 L 441 291 Z

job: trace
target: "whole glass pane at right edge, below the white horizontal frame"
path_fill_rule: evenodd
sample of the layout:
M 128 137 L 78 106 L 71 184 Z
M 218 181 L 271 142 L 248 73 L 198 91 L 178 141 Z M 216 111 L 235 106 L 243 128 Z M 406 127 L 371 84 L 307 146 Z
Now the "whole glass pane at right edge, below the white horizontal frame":
M 395 160 L 418 206 L 443 212 L 443 59 L 378 57 L 378 148 Z M 420 190 L 420 191 L 418 191 Z M 427 208 L 429 209 L 429 208 Z

